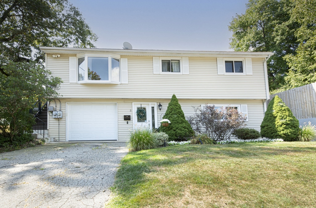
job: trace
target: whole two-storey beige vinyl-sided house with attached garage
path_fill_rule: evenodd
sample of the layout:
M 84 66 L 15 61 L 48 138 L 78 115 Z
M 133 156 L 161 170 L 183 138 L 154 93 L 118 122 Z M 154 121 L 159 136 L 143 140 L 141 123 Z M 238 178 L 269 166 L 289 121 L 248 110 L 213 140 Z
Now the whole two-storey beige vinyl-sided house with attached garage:
M 173 94 L 179 99 L 185 116 L 194 113 L 192 106 L 235 105 L 247 115 L 247 126 L 260 130 L 269 96 L 266 60 L 273 53 L 53 47 L 41 47 L 41 50 L 46 53 L 46 69 L 64 82 L 59 90 L 64 116 L 59 121 L 48 116 L 49 137 L 55 141 L 125 142 L 136 125 L 158 128 Z M 55 54 L 60 56 L 55 58 L 52 56 Z M 89 80 L 87 74 L 82 78 L 78 59 L 83 57 L 85 61 L 90 57 L 114 60 L 119 62 L 119 68 L 112 66 L 114 62 L 109 63 L 108 81 Z M 171 63 L 171 70 L 173 66 L 179 68 L 176 72 L 163 71 L 166 65 L 162 61 Z M 80 70 L 90 70 L 93 62 L 89 66 L 87 62 Z M 235 71 L 240 67 L 242 72 L 229 73 L 225 64 L 226 68 L 233 64 Z M 111 73 L 116 73 L 112 78 L 115 81 L 111 81 Z M 59 110 L 59 101 L 56 102 L 55 110 Z M 136 110 L 140 104 L 146 107 L 146 122 L 138 122 Z M 55 108 L 55 103 L 51 101 L 50 106 Z M 131 120 L 124 120 L 125 115 Z

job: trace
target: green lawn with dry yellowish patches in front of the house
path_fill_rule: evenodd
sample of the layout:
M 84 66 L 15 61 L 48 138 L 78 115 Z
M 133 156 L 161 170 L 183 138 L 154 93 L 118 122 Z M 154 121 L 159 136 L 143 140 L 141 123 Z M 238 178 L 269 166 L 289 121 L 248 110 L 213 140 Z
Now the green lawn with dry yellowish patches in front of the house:
M 106 207 L 316 207 L 316 142 L 128 153 Z

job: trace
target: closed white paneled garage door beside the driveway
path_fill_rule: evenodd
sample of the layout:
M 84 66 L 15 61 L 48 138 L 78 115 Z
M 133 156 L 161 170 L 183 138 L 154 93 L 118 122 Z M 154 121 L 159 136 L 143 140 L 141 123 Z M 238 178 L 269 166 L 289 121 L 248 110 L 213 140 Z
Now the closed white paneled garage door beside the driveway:
M 68 103 L 68 141 L 117 140 L 116 103 Z

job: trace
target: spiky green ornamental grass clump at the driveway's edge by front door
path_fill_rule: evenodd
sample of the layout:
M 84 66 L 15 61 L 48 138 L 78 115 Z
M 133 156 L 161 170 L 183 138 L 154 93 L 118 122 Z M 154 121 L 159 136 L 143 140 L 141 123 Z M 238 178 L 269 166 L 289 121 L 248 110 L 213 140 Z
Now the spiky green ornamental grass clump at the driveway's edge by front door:
M 131 151 L 149 150 L 156 147 L 151 129 L 147 126 L 136 126 L 131 132 L 128 147 Z

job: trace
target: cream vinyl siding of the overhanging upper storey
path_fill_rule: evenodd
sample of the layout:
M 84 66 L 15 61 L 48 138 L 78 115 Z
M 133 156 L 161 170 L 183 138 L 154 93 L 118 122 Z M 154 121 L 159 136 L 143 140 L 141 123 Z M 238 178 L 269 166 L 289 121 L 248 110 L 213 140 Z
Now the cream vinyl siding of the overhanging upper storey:
M 153 57 L 128 58 L 128 84 L 69 83 L 69 56 L 47 56 L 47 69 L 60 76 L 64 98 L 266 99 L 264 58 L 252 58 L 252 76 L 219 76 L 216 58 L 189 58 L 190 74 L 153 73 Z

